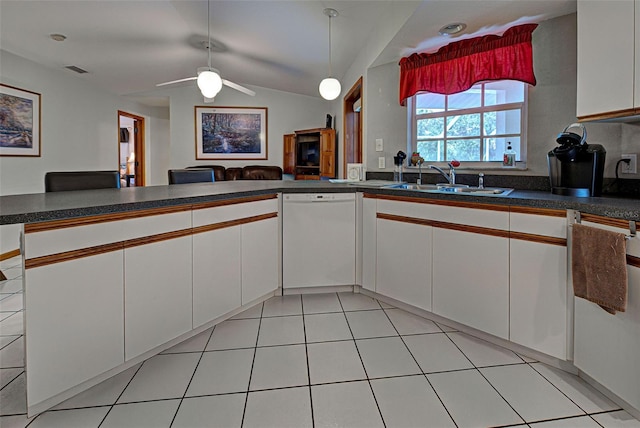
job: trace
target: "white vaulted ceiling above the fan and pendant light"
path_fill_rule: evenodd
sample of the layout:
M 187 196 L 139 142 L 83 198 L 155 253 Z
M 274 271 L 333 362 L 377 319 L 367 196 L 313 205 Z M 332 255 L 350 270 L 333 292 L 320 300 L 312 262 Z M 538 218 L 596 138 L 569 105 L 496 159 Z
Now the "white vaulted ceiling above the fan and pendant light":
M 371 38 L 388 40 L 370 64 L 381 65 L 452 40 L 572 13 L 576 2 L 212 0 L 209 6 L 212 66 L 223 78 L 318 96 L 328 74 L 324 8 L 340 13 L 331 23 L 333 74 L 340 78 Z M 410 17 L 387 34 L 393 16 Z M 468 25 L 461 36 L 438 34 L 460 21 Z M 206 0 L 0 0 L 1 49 L 47 67 L 80 67 L 88 73 L 78 78 L 120 95 L 148 94 L 157 83 L 194 76 L 207 64 L 207 24 Z M 67 39 L 56 42 L 53 33 Z

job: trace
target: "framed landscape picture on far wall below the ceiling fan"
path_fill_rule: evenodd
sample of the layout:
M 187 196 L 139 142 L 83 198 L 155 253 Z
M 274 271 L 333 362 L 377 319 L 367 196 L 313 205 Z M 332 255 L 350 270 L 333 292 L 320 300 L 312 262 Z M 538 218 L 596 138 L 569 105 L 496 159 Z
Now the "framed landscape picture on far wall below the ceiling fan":
M 266 107 L 196 106 L 196 159 L 267 159 Z

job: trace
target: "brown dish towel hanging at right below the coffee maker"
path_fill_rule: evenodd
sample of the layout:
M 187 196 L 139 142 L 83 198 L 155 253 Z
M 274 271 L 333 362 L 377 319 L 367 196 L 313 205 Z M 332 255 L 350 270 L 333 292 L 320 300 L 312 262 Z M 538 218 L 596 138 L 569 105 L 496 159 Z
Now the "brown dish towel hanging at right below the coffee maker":
M 627 242 L 624 233 L 573 225 L 573 293 L 615 314 L 627 308 Z

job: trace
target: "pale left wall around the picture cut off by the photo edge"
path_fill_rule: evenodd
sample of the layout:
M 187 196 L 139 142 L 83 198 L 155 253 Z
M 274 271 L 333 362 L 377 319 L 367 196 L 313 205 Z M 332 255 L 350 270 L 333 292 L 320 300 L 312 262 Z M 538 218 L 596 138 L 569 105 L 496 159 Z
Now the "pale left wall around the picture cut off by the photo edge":
M 155 113 L 71 71 L 42 67 L 6 51 L 0 51 L 0 63 L 2 83 L 41 94 L 42 141 L 39 158 L 0 157 L 0 195 L 43 192 L 47 171 L 118 169 L 118 110 L 145 119 Z M 153 121 L 147 127 L 149 134 L 155 132 Z

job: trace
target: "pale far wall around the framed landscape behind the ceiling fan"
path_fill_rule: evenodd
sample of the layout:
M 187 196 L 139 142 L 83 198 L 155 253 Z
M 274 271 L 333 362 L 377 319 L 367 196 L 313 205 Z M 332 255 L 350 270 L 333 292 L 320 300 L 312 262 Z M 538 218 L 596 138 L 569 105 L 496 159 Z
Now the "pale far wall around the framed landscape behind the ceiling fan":
M 196 84 L 175 87 L 163 91 L 170 97 L 171 149 L 170 168 L 184 168 L 194 165 L 216 164 L 225 167 L 245 165 L 282 166 L 284 134 L 309 128 L 324 128 L 327 113 L 331 114 L 331 104 L 327 101 L 251 86 L 255 97 L 223 87 L 216 96 L 215 103 L 205 104 Z M 195 152 L 195 106 L 225 107 L 267 107 L 267 159 L 266 160 L 197 160 Z M 167 183 L 166 171 L 164 181 Z

